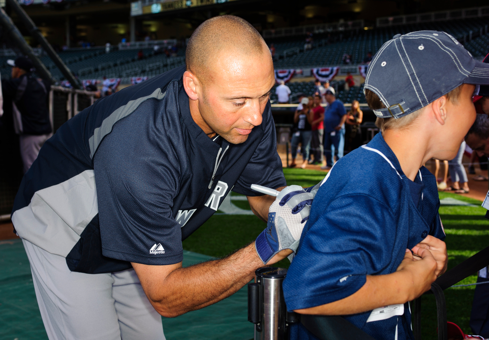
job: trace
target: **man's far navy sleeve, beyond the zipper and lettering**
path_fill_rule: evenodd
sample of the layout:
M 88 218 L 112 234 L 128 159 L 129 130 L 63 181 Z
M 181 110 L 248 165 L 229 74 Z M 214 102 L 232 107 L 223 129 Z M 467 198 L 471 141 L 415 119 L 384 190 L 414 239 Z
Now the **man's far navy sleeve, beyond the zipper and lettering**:
M 273 189 L 287 185 L 282 170 L 282 161 L 277 153 L 277 134 L 270 102 L 268 102 L 263 113 L 262 124 L 255 128 L 263 129 L 262 140 L 233 188 L 233 191 L 247 196 L 261 195 L 261 193 L 250 189 L 252 184 Z

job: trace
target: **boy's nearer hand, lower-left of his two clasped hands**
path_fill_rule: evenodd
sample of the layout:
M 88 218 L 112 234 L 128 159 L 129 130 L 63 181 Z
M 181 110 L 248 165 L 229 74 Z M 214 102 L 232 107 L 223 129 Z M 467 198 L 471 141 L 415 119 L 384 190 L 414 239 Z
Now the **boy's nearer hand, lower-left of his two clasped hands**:
M 420 297 L 436 280 L 437 262 L 431 252 L 419 247 L 416 255 L 420 257 L 418 260 L 415 260 L 411 251 L 406 249 L 404 259 L 396 270 L 405 274 L 404 284 L 409 287 L 406 301 Z

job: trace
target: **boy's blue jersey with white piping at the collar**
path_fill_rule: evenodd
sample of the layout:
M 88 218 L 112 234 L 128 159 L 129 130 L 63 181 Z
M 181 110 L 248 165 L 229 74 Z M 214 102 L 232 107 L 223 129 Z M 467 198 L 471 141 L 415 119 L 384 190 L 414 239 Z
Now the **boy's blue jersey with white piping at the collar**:
M 421 199 L 379 133 L 341 158 L 317 192 L 297 255 L 284 281 L 289 310 L 348 297 L 367 275 L 396 271 L 405 250 L 428 234 L 445 239 L 435 177 L 422 167 Z M 391 314 L 389 314 L 390 312 Z M 344 316 L 377 340 L 412 339 L 409 303 Z M 316 339 L 301 324 L 291 339 Z

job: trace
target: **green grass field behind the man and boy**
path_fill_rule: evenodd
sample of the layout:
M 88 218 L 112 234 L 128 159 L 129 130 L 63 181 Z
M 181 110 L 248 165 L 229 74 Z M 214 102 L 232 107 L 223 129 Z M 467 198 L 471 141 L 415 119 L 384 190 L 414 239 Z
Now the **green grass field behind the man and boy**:
M 284 169 L 288 184 L 309 187 L 325 176 L 324 172 L 303 169 Z M 442 206 L 440 216 L 446 233 L 448 269 L 464 261 L 489 244 L 489 228 L 484 217 L 486 210 L 481 202 L 440 192 L 440 199 L 452 197 L 478 207 Z M 249 209 L 247 202 L 234 201 L 242 209 Z M 214 215 L 194 234 L 183 242 L 183 248 L 200 254 L 222 257 L 252 242 L 265 228 L 265 223 L 255 216 Z M 289 260 L 276 264 L 288 268 Z M 475 283 L 476 273 L 460 284 Z M 468 324 L 475 286 L 445 290 L 447 319 L 458 324 L 466 334 L 471 334 Z M 422 297 L 422 339 L 436 339 L 436 306 L 432 295 Z

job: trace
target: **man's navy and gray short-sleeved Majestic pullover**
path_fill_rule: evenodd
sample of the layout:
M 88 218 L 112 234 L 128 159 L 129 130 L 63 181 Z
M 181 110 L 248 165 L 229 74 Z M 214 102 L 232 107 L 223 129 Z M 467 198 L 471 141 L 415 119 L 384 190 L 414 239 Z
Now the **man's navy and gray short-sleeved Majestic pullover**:
M 60 127 L 22 180 L 17 233 L 72 271 L 174 264 L 231 189 L 285 186 L 270 104 L 244 143 L 211 139 L 190 114 L 184 71 L 102 98 Z

